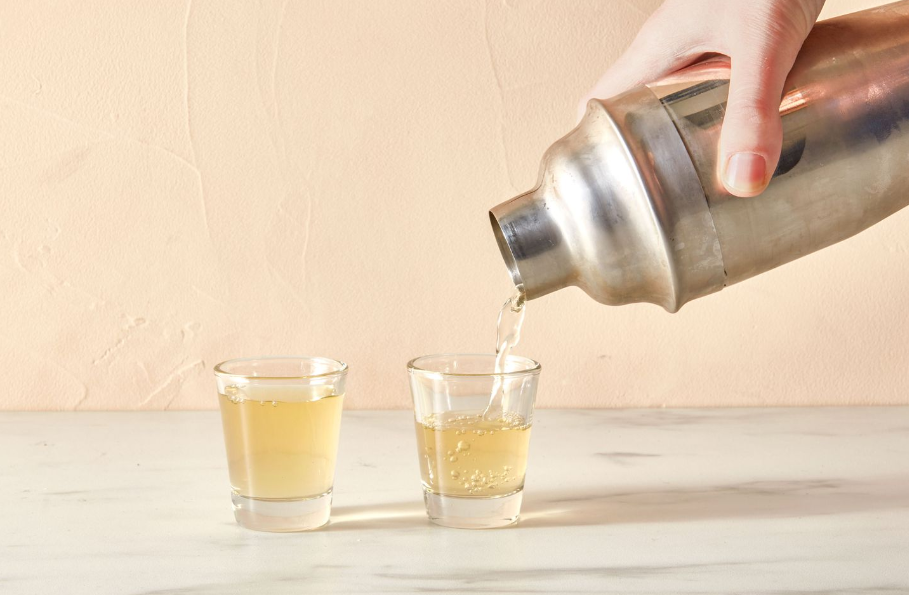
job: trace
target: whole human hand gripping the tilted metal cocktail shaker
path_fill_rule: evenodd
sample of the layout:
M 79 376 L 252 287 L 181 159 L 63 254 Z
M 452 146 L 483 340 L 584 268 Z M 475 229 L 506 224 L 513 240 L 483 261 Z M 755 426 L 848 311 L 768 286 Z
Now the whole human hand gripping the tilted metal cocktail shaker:
M 755 196 L 770 183 L 783 142 L 786 76 L 824 0 L 666 0 L 581 103 L 612 97 L 708 54 L 731 61 L 717 172 L 726 190 Z

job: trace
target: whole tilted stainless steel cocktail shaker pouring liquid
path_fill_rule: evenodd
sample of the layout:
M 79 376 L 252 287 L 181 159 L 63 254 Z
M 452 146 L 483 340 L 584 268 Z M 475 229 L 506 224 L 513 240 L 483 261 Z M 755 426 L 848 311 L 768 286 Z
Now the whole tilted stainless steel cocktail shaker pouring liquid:
M 786 81 L 761 195 L 728 194 L 728 62 L 591 100 L 537 187 L 490 211 L 529 299 L 570 285 L 670 312 L 844 240 L 909 204 L 909 2 L 818 23 Z

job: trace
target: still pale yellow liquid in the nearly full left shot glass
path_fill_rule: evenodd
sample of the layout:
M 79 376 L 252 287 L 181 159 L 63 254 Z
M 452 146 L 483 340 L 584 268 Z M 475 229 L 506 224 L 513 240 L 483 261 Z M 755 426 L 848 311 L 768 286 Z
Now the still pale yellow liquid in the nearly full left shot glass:
M 260 388 L 255 398 L 220 395 L 230 484 L 249 498 L 304 499 L 334 480 L 343 395 Z M 309 391 L 308 394 L 301 391 Z

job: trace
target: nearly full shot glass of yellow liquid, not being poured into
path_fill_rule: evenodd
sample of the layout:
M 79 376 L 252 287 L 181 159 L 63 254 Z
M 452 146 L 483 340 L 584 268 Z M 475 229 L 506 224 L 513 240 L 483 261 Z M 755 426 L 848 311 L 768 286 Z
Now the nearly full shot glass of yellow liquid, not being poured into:
M 347 364 L 234 359 L 215 376 L 237 523 L 279 532 L 327 523 Z

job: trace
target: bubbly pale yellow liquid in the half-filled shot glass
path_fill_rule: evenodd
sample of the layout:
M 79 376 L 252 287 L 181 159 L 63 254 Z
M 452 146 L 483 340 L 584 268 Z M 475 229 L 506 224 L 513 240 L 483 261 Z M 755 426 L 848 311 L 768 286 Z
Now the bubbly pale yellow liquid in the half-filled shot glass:
M 434 414 L 417 423 L 423 484 L 445 496 L 489 498 L 524 486 L 530 424 L 519 415 Z

